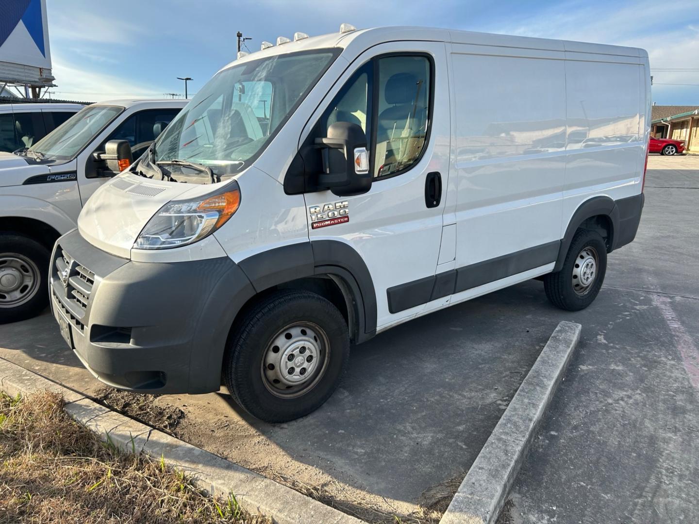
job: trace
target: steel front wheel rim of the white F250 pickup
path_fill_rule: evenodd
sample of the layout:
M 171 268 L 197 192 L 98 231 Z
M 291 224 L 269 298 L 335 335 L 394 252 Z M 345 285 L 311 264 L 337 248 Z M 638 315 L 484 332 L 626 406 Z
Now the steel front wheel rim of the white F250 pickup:
M 0 307 L 17 307 L 36 295 L 40 273 L 34 261 L 19 253 L 0 253 Z

